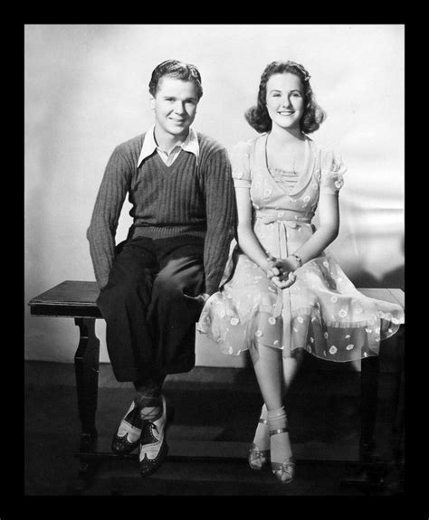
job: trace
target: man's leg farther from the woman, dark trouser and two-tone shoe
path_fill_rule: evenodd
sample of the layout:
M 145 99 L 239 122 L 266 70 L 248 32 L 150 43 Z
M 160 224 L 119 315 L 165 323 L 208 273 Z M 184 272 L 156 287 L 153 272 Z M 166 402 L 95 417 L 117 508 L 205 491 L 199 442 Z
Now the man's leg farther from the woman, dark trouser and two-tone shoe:
M 98 305 L 106 320 L 106 340 L 118 381 L 132 381 L 136 396 L 119 428 L 111 449 L 127 454 L 138 448 L 144 420 L 162 411 L 160 389 L 164 381 L 156 369 L 156 352 L 147 314 L 153 279 L 158 269 L 153 241 L 135 239 L 119 248 L 108 285 L 100 291 Z

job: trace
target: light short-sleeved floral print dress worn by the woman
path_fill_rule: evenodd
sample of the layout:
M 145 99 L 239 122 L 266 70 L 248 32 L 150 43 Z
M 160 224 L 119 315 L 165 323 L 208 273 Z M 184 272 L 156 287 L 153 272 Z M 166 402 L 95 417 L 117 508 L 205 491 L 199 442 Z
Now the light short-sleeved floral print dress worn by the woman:
M 346 169 L 333 153 L 306 137 L 305 171 L 289 187 L 270 173 L 268 134 L 241 142 L 231 157 L 234 184 L 250 187 L 253 230 L 265 251 L 285 258 L 308 241 L 319 193 L 337 194 Z M 277 288 L 234 244 L 221 290 L 205 302 L 197 330 L 224 354 L 240 355 L 260 343 L 288 357 L 297 348 L 335 362 L 377 355 L 380 341 L 404 323 L 396 304 L 358 291 L 328 250 L 295 271 L 290 288 Z

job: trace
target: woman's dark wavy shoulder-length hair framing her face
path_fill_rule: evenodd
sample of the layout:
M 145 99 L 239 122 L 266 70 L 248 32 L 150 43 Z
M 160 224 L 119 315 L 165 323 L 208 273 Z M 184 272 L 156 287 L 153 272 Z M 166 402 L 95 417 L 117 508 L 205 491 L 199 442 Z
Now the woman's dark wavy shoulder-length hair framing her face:
M 260 134 L 262 132 L 269 132 L 272 129 L 272 119 L 266 107 L 267 82 L 273 74 L 282 74 L 284 72 L 295 74 L 302 82 L 305 108 L 304 114 L 300 119 L 301 131 L 306 134 L 315 132 L 326 119 L 326 113 L 319 107 L 313 90 L 311 90 L 309 72 L 306 71 L 300 63 L 296 63 L 295 61 L 272 61 L 272 63 L 265 67 L 259 84 L 257 104 L 246 110 L 244 118 L 249 125 Z

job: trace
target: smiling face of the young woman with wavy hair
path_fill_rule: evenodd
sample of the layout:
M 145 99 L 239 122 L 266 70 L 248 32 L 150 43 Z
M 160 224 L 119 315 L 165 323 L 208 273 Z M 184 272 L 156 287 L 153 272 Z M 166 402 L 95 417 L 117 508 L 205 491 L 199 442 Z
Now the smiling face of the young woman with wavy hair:
M 267 81 L 266 106 L 272 126 L 300 129 L 304 114 L 304 91 L 298 76 L 291 72 L 273 74 Z

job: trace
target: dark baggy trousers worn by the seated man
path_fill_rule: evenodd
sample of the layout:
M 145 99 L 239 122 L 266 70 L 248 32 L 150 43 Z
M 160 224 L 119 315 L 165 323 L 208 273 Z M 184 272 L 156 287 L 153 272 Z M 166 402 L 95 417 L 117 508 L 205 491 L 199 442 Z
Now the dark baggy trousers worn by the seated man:
M 113 373 L 144 382 L 195 366 L 195 322 L 203 302 L 204 241 L 138 237 L 119 244 L 97 304 L 106 320 Z

